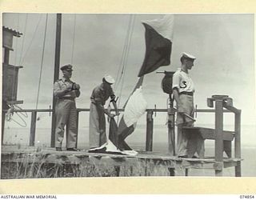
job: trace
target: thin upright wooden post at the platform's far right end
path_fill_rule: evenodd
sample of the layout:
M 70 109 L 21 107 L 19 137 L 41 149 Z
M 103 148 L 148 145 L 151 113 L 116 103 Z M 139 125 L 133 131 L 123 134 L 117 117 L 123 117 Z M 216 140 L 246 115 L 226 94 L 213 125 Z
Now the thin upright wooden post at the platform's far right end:
M 241 158 L 241 112 L 234 115 L 234 157 Z M 241 177 L 241 161 L 234 169 L 235 176 Z

